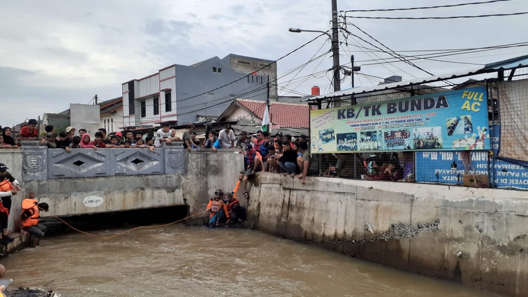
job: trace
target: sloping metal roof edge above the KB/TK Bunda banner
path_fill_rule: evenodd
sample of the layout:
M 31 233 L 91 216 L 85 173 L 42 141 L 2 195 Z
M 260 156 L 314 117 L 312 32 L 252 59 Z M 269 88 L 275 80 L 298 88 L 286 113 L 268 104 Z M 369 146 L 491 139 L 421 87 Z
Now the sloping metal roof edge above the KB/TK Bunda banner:
M 354 95 L 354 94 L 357 95 L 357 94 L 378 92 L 378 91 L 390 90 L 390 89 L 395 89 L 395 88 L 410 87 L 412 85 L 420 85 L 420 84 L 425 84 L 425 83 L 430 83 L 430 82 L 456 79 L 456 78 L 462 78 L 464 76 L 490 73 L 490 72 L 496 72 L 496 71 L 501 71 L 501 70 L 522 68 L 522 67 L 528 67 L 528 55 L 519 56 L 517 58 L 508 59 L 504 61 L 489 63 L 489 64 L 484 65 L 484 67 L 450 72 L 450 73 L 440 74 L 440 75 L 433 75 L 433 76 L 428 76 L 426 78 L 393 82 L 393 83 L 388 83 L 388 84 L 380 84 L 380 85 L 375 85 L 373 87 L 361 87 L 361 88 L 341 90 L 341 91 L 332 92 L 332 93 L 328 93 L 324 95 L 308 97 L 306 99 L 303 99 L 303 101 L 314 101 L 314 100 L 328 99 L 328 98 L 333 98 L 333 97 L 342 97 L 342 96 L 348 96 L 348 95 Z

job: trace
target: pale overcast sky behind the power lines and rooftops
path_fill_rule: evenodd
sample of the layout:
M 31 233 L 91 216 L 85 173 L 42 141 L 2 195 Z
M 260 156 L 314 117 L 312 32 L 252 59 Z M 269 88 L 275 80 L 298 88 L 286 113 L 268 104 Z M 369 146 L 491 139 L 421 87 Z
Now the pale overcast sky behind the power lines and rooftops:
M 338 0 L 338 10 L 399 8 L 475 2 L 465 0 Z M 350 13 L 363 16 L 454 16 L 528 11 L 525 0 L 408 12 Z M 88 103 L 121 95 L 121 83 L 142 78 L 174 63 L 190 65 L 229 53 L 276 60 L 315 37 L 290 33 L 289 27 L 328 30 L 331 1 L 3 1 L 0 4 L 0 124 L 12 126 L 44 112 L 60 112 L 70 103 Z M 526 16 L 455 20 L 349 20 L 392 50 L 464 49 L 528 41 Z M 368 39 L 348 26 L 354 34 Z M 342 41 L 344 41 L 343 36 Z M 372 47 L 360 40 L 362 46 Z M 374 43 L 374 42 L 373 42 Z M 308 61 L 325 38 L 278 62 L 278 74 Z M 345 44 L 341 64 L 376 59 L 372 53 Z M 485 64 L 526 53 L 526 47 L 448 56 L 457 62 Z M 404 53 L 412 54 L 412 53 Z M 416 53 L 415 53 L 416 54 Z M 380 54 L 386 58 L 386 54 Z M 473 58 L 472 58 L 473 57 Z M 332 66 L 331 55 L 307 65 L 297 77 Z M 478 65 L 416 61 L 435 74 L 471 69 Z M 362 65 L 372 62 L 359 62 Z M 399 68 L 399 69 L 398 69 Z M 365 74 L 403 79 L 428 74 L 402 63 L 364 65 Z M 405 72 L 408 72 L 405 73 Z M 295 74 L 295 73 L 294 73 Z M 294 74 L 279 83 L 286 84 Z M 377 84 L 356 77 L 359 85 Z M 328 91 L 329 80 L 313 78 L 286 87 L 309 93 L 312 85 Z M 350 80 L 342 83 L 350 88 Z M 279 94 L 287 94 L 284 90 Z

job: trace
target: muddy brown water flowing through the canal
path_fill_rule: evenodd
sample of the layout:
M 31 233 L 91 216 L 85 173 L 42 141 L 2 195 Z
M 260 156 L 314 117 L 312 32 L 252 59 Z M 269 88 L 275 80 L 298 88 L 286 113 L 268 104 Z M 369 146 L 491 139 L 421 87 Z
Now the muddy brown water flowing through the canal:
M 497 296 L 257 231 L 185 225 L 50 236 L 1 263 L 13 288 L 53 280 L 63 296 Z

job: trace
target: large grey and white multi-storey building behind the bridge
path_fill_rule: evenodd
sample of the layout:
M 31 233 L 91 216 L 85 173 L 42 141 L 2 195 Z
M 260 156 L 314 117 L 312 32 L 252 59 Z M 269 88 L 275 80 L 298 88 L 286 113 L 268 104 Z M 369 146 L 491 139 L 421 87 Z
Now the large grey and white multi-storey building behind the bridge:
M 277 98 L 277 65 L 270 60 L 229 54 L 190 66 L 167 66 L 122 84 L 123 127 L 194 122 L 197 114 L 222 113 L 242 95 L 266 100 L 268 75 L 270 98 Z

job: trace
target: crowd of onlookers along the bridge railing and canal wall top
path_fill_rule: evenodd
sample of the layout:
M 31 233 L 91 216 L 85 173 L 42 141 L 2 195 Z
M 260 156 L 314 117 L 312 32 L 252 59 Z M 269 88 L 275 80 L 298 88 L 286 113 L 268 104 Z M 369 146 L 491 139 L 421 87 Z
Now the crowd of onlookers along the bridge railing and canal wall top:
M 18 137 L 12 136 L 11 128 L 2 129 L 0 147 L 16 148 L 20 140 L 39 140 L 41 145 L 49 148 L 61 148 L 67 151 L 75 148 L 146 148 L 153 151 L 164 143 L 174 141 L 183 142 L 187 150 L 211 149 L 218 151 L 225 148 L 238 149 L 244 158 L 244 171 L 241 173 L 243 195 L 248 196 L 247 181 L 258 172 L 268 171 L 270 173 L 291 175 L 299 178 L 303 184 L 306 176 L 322 175 L 327 177 L 365 178 L 378 180 L 412 180 L 413 162 L 412 156 L 404 154 L 400 160 L 387 157 L 388 153 L 376 153 L 371 157 L 362 157 L 363 154 L 332 154 L 333 160 L 326 160 L 326 167 L 320 167 L 322 156 L 317 156 L 313 161 L 313 170 L 310 170 L 310 158 L 308 140 L 306 135 L 294 138 L 291 135 L 282 135 L 281 131 L 272 135 L 268 131 L 258 131 L 250 135 L 241 131 L 235 135 L 231 124 L 226 124 L 220 131 L 212 129 L 208 123 L 205 126 L 205 138 L 197 138 L 193 131 L 194 124 L 189 123 L 182 137 L 176 136 L 176 130 L 168 123 L 155 132 L 155 137 L 145 137 L 143 132 L 118 131 L 107 132 L 100 128 L 93 138 L 86 129 L 68 127 L 56 135 L 53 126 L 44 128 L 44 137 L 39 137 L 36 129 L 36 120 L 30 120 L 29 125 L 21 129 Z M 435 136 L 427 140 L 434 140 Z M 355 142 L 355 141 L 354 141 Z M 339 143 L 341 146 L 349 143 Z M 354 143 L 354 145 L 357 145 Z M 395 154 L 395 153 L 393 153 Z M 326 154 L 325 154 L 326 155 Z M 356 160 L 354 160 L 356 159 Z M 354 165 L 352 165 L 354 164 Z M 314 173 L 314 171 L 319 171 Z

